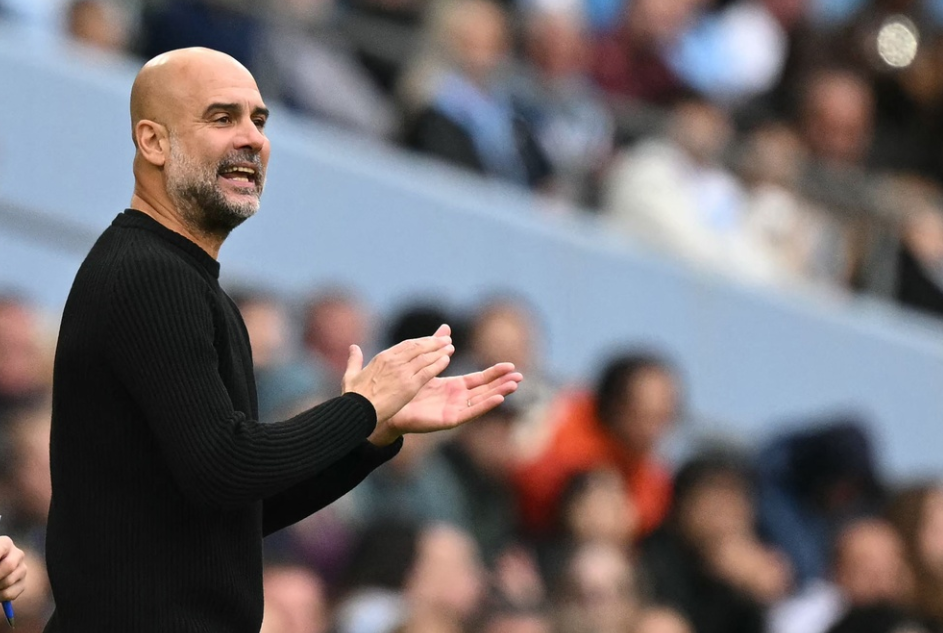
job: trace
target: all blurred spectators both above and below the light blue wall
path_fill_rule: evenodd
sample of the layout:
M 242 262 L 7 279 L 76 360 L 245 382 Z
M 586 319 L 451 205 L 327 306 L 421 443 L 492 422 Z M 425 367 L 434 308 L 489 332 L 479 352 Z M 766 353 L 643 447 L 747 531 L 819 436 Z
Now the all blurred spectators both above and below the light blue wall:
M 943 2 L 0 0 L 0 19 L 142 59 L 216 48 L 269 101 L 529 188 L 547 213 L 751 283 L 943 314 Z M 526 376 L 271 536 L 264 633 L 943 632 L 943 482 L 887 481 L 866 420 L 669 459 L 690 387 L 657 349 L 564 384 L 514 296 L 379 315 L 342 287 L 232 294 L 267 423 L 337 394 L 351 343 L 443 322 L 450 371 Z M 51 608 L 55 329 L 0 294 L 0 531 L 30 555 L 26 633 Z

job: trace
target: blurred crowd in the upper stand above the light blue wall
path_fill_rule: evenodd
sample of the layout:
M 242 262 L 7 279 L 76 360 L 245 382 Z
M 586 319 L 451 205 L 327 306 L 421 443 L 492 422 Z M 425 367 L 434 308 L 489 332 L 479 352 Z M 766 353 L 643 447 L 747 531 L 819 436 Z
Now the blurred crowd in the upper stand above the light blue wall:
M 943 313 L 943 0 L 0 0 L 205 45 L 305 115 L 700 270 Z

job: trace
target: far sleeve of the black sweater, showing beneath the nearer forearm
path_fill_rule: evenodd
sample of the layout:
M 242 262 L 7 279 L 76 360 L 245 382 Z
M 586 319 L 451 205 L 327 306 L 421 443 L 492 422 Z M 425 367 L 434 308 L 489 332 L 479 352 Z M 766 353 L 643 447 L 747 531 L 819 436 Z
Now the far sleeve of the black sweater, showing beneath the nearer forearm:
M 403 438 L 389 446 L 362 442 L 317 475 L 274 495 L 263 503 L 262 532 L 266 536 L 296 523 L 350 492 L 373 470 L 399 453 Z

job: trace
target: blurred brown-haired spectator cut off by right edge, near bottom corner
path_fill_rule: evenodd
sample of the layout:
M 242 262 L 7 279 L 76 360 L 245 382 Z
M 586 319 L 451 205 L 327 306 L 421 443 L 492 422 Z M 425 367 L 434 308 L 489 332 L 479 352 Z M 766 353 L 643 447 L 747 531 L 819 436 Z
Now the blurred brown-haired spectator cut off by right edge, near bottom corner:
M 943 631 L 943 485 L 905 488 L 892 498 L 889 517 L 914 571 L 917 613 Z

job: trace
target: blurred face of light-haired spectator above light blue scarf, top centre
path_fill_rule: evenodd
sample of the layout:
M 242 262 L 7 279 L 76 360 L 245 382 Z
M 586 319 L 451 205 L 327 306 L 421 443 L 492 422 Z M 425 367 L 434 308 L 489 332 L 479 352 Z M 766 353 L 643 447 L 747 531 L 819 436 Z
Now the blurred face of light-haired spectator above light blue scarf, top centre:
M 449 18 L 446 45 L 454 61 L 473 82 L 486 84 L 507 55 L 504 13 L 488 0 L 462 0 Z

